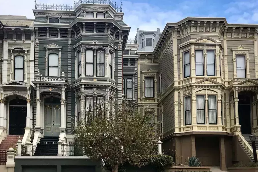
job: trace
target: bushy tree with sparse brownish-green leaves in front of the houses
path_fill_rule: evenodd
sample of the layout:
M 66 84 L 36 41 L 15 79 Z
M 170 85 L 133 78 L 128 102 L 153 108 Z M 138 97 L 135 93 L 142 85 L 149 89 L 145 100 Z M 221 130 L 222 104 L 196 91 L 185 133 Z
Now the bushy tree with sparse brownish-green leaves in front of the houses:
M 75 144 L 80 145 L 83 155 L 103 159 L 112 172 L 118 172 L 124 162 L 140 167 L 139 155 L 150 155 L 157 147 L 152 116 L 139 113 L 133 105 L 117 104 L 96 105 L 95 110 L 91 107 L 87 119 L 75 128 Z

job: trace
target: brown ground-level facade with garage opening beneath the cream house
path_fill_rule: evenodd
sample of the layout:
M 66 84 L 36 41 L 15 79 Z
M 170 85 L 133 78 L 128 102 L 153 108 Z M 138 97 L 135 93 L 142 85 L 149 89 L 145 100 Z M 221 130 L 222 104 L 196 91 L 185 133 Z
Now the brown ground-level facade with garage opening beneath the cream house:
M 175 150 L 174 162 L 186 164 L 188 157 L 196 156 L 202 166 L 219 166 L 222 171 L 234 163 L 251 161 L 238 143 L 237 136 L 219 133 L 190 132 L 164 138 L 163 150 Z

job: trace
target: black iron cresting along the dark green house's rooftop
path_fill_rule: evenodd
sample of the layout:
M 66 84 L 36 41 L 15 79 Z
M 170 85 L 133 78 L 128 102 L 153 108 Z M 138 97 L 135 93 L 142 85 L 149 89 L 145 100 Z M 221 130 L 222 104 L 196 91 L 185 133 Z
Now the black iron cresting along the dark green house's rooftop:
M 44 3 L 36 3 L 35 0 L 35 9 L 45 9 L 45 10 L 62 10 L 62 11 L 73 11 L 81 4 L 108 4 L 113 7 L 117 12 L 123 11 L 123 4 L 117 5 L 116 2 L 112 2 L 112 0 L 79 0 L 77 3 L 74 1 L 74 5 L 61 5 L 61 4 L 44 4 Z

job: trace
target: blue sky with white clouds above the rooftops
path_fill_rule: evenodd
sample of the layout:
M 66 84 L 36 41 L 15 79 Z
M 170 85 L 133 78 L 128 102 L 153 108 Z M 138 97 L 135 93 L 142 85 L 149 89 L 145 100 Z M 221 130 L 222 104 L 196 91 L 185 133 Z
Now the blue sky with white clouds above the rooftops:
M 73 4 L 73 0 L 37 0 L 37 3 Z M 116 1 L 120 4 L 121 0 Z M 258 0 L 123 0 L 124 22 L 136 30 L 164 29 L 185 17 L 225 17 L 228 23 L 257 24 Z M 0 0 L 0 15 L 34 18 L 34 0 Z

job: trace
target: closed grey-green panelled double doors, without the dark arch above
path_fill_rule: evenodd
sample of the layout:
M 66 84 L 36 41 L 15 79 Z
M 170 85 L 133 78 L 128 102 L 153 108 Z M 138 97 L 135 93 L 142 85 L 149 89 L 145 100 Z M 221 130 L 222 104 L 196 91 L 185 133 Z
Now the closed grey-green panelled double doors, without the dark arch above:
M 45 105 L 44 136 L 59 136 L 61 119 L 60 105 Z

